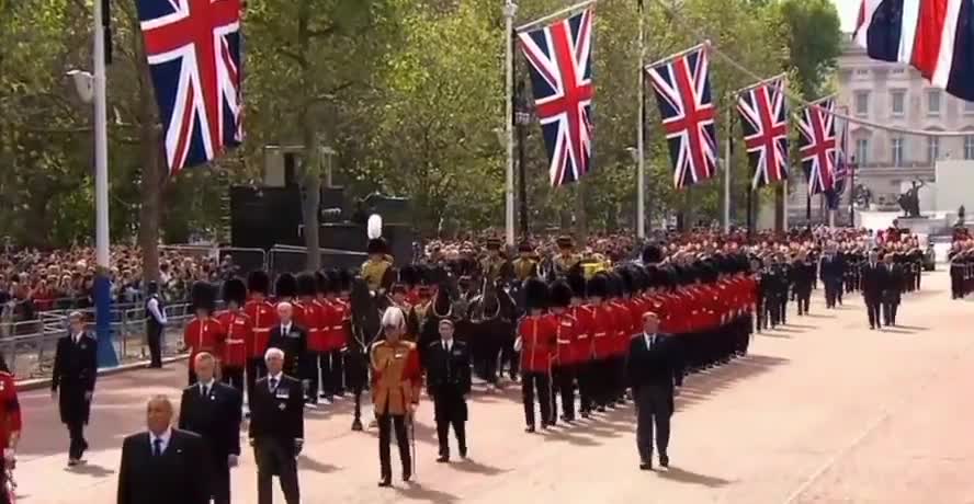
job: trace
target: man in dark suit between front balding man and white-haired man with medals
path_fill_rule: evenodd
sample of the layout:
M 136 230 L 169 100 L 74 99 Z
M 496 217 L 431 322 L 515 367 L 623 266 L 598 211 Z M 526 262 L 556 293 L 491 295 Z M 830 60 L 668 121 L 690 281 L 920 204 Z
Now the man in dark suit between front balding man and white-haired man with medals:
M 244 396 L 215 378 L 216 359 L 196 354 L 197 382 L 183 389 L 179 428 L 203 436 L 209 451 L 209 495 L 214 504 L 230 503 L 230 468 L 240 456 L 240 420 Z

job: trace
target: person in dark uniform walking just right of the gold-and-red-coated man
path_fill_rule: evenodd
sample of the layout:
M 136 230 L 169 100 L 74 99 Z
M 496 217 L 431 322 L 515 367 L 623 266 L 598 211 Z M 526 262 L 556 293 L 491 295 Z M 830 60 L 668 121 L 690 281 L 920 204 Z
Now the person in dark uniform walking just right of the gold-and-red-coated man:
M 466 458 L 466 398 L 471 393 L 471 353 L 466 343 L 453 337 L 453 320 L 442 319 L 440 341 L 427 347 L 427 387 L 433 399 L 437 438 L 440 442 L 438 462 L 450 461 L 450 426 L 456 435 L 460 457 Z

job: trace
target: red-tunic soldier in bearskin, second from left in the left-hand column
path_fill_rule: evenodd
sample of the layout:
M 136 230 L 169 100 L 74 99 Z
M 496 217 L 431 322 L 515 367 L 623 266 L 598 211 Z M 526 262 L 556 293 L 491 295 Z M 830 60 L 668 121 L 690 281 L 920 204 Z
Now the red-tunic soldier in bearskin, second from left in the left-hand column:
M 253 341 L 250 318 L 242 310 L 247 299 L 247 286 L 239 278 L 224 283 L 223 299 L 227 309 L 216 319 L 223 325 L 227 337 L 223 355 L 223 381 L 244 396 L 244 369 L 247 365 L 247 343 Z

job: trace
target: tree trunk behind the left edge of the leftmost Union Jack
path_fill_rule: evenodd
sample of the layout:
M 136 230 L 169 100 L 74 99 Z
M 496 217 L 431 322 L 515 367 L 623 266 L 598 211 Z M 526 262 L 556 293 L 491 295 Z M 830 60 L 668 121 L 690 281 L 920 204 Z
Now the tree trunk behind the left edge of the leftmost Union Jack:
M 143 160 L 138 245 L 143 254 L 143 279 L 148 283 L 159 280 L 159 227 L 162 210 L 160 201 L 168 170 L 163 167 L 166 154 L 162 146 L 162 125 L 157 118 L 152 80 L 145 57 L 141 33 L 133 35 L 132 39 L 135 44 L 135 62 L 138 70 L 139 146 Z

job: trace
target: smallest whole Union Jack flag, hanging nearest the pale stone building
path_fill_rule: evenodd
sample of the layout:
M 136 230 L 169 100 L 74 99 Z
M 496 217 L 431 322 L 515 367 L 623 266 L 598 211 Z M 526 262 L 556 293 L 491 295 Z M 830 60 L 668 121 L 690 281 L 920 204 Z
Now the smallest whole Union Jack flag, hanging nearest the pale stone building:
M 836 125 L 833 99 L 808 105 L 799 117 L 802 165 L 808 177 L 808 194 L 835 188 Z

